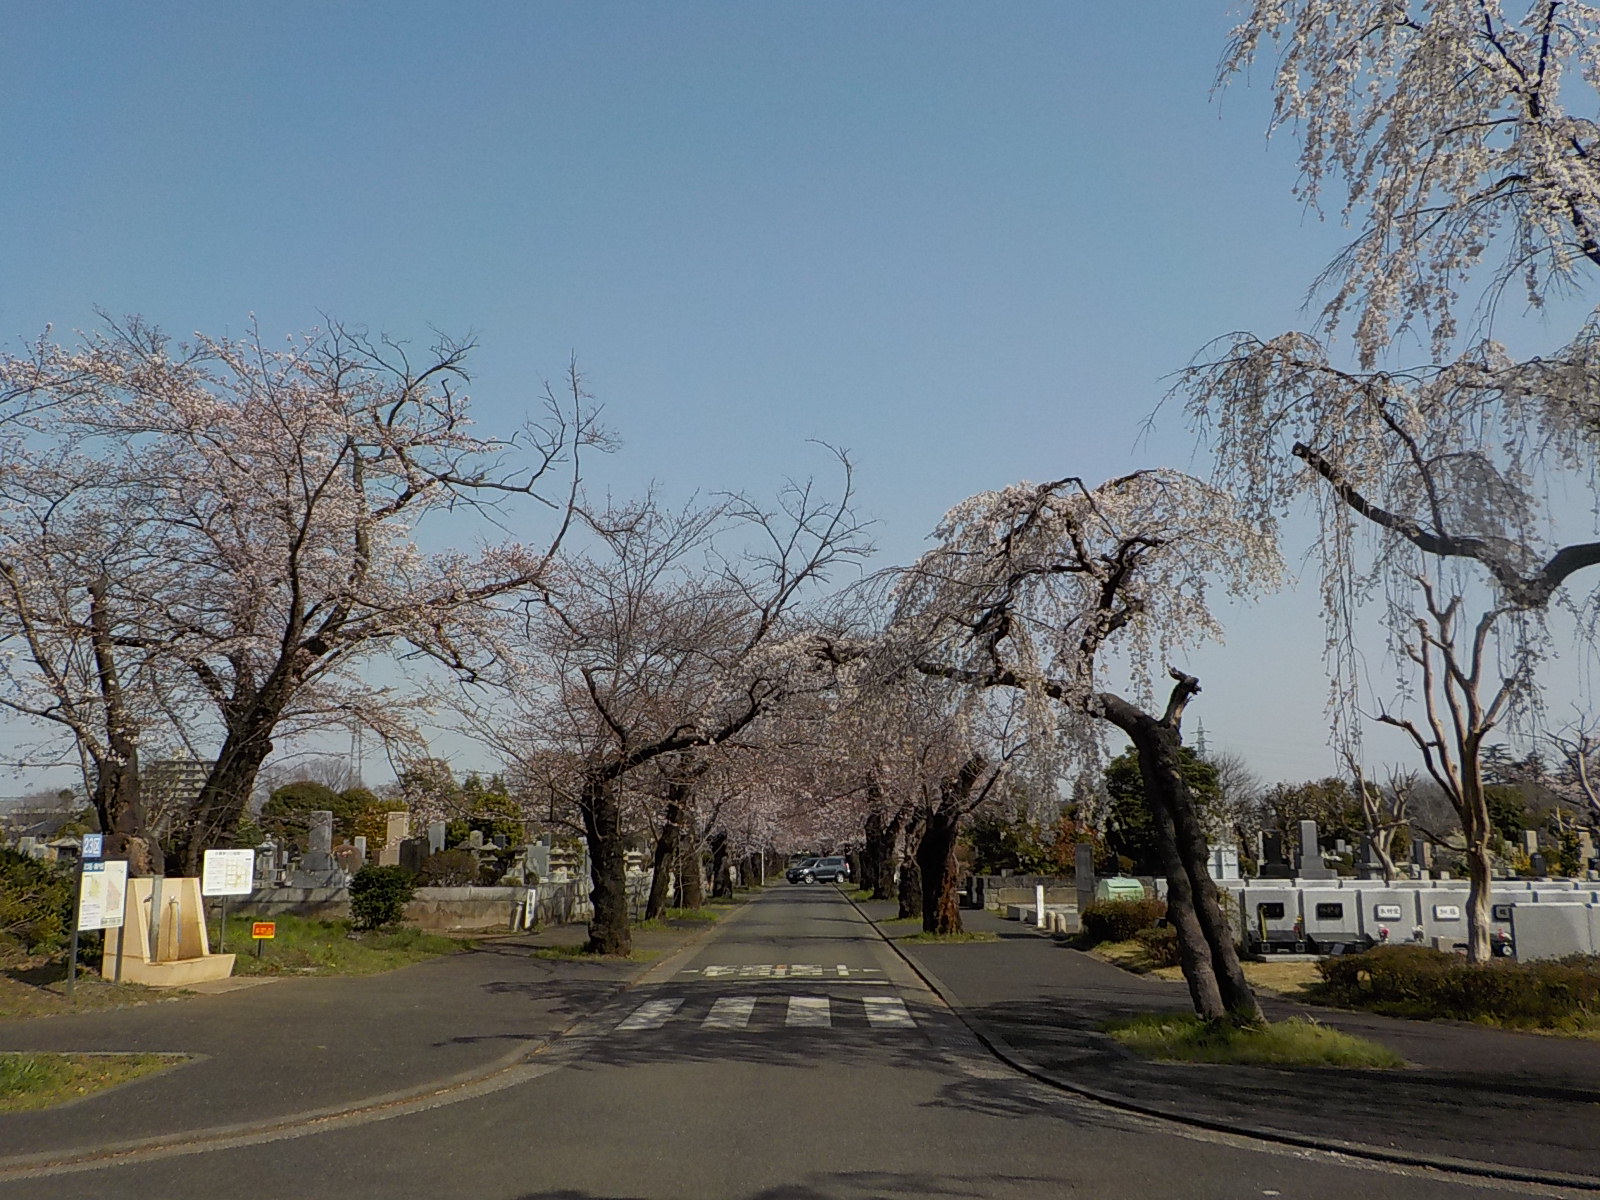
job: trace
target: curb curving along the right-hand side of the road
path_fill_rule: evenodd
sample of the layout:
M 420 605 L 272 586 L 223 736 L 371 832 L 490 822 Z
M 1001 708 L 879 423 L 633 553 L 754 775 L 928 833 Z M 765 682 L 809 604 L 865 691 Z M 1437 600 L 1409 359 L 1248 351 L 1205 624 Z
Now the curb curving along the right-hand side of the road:
M 1053 1075 L 1045 1067 L 1032 1062 L 1022 1051 L 1006 1042 L 1000 1034 L 990 1029 L 982 1018 L 976 1016 L 962 1000 L 949 989 L 946 984 L 928 968 L 912 958 L 906 950 L 902 950 L 893 938 L 878 928 L 878 923 L 867 915 L 861 904 L 846 894 L 856 912 L 866 918 L 866 922 L 877 931 L 877 934 L 888 942 L 890 949 L 894 950 L 901 960 L 915 971 L 917 978 L 922 979 L 928 987 L 944 1002 L 944 1005 L 955 1013 L 962 1024 L 965 1024 L 973 1035 L 994 1054 L 997 1059 L 1005 1062 L 1016 1072 L 1027 1075 L 1037 1083 L 1056 1088 L 1058 1091 L 1066 1091 L 1074 1096 L 1082 1096 L 1083 1099 L 1094 1101 L 1096 1104 L 1104 1104 L 1110 1109 L 1118 1109 L 1122 1112 L 1131 1112 L 1139 1117 L 1150 1117 L 1162 1122 L 1171 1122 L 1174 1125 L 1186 1125 L 1197 1130 L 1206 1130 L 1210 1133 L 1224 1133 L 1234 1138 L 1250 1138 L 1253 1141 L 1272 1142 L 1275 1146 L 1291 1146 L 1301 1150 L 1318 1150 L 1323 1154 L 1342 1154 L 1352 1158 L 1366 1158 L 1370 1162 L 1389 1163 L 1394 1166 L 1419 1166 L 1430 1171 L 1448 1171 L 1451 1174 L 1466 1174 L 1478 1179 L 1496 1179 L 1502 1182 L 1517 1184 L 1539 1184 L 1544 1187 L 1568 1187 L 1586 1192 L 1600 1192 L 1600 1176 L 1592 1174 L 1566 1174 L 1565 1171 L 1539 1171 L 1525 1166 L 1507 1166 L 1502 1163 L 1486 1163 L 1475 1158 L 1454 1158 L 1442 1154 L 1419 1154 L 1410 1150 L 1397 1150 L 1387 1146 L 1373 1146 L 1370 1142 L 1349 1142 L 1338 1138 L 1314 1138 L 1306 1134 L 1282 1133 L 1277 1130 L 1262 1130 L 1250 1125 L 1240 1125 L 1237 1122 L 1216 1120 L 1210 1117 L 1197 1117 L 1192 1114 L 1171 1112 L 1168 1109 L 1158 1109 L 1150 1104 L 1141 1104 L 1139 1101 L 1128 1099 L 1126 1096 L 1118 1096 L 1112 1091 L 1102 1091 L 1099 1088 L 1085 1086 L 1083 1083 L 1070 1083 L 1064 1078 Z

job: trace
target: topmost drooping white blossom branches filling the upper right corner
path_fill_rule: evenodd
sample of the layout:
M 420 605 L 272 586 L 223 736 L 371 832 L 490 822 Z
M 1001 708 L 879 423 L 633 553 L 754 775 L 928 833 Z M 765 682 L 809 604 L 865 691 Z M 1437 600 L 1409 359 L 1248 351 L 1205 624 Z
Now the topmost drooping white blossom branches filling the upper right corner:
M 1269 43 L 1274 128 L 1299 139 L 1301 195 L 1317 205 L 1344 182 L 1357 234 L 1328 267 L 1323 315 L 1331 326 L 1354 312 L 1365 370 L 1416 325 L 1443 358 L 1478 267 L 1493 307 L 1510 280 L 1539 304 L 1600 266 L 1594 5 L 1254 0 L 1222 80 Z

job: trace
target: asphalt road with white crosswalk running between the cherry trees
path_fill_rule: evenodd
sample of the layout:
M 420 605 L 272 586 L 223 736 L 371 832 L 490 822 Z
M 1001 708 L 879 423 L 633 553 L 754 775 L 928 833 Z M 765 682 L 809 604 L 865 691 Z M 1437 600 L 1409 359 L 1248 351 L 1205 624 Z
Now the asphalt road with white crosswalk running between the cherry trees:
M 526 1067 L 474 1088 L 259 1144 L 0 1184 L 0 1200 L 1477 1194 L 1206 1139 L 1032 1083 L 824 886 L 762 894 Z

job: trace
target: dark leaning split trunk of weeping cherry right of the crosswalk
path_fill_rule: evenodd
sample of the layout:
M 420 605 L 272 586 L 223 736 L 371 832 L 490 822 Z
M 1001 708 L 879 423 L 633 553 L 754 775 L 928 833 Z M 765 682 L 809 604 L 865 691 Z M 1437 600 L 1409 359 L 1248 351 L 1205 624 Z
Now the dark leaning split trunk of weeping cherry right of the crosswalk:
M 1218 901 L 1205 824 L 1181 770 L 1179 720 L 1184 704 L 1198 690 L 1197 680 L 1178 675 L 1166 717 L 1160 720 L 1120 696 L 1106 693 L 1099 698 L 1101 710 L 1128 734 L 1139 754 L 1139 773 L 1155 816 L 1163 870 L 1166 870 L 1168 918 L 1178 933 L 1184 979 L 1189 981 L 1195 1011 L 1206 1021 L 1226 1016 L 1235 1024 L 1258 1026 L 1266 1018 L 1250 981 L 1245 979 L 1227 915 Z M 1222 1011 L 1214 1006 L 1213 989 Z

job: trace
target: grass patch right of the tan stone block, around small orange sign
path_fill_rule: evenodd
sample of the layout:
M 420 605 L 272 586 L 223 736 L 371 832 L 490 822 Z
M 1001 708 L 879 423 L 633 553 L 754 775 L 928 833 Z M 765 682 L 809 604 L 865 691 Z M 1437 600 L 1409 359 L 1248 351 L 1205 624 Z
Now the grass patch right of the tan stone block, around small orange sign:
M 344 922 L 272 917 L 277 936 L 262 942 L 258 958 L 250 938 L 253 920 L 234 915 L 227 918 L 227 949 L 238 955 L 234 974 L 378 974 L 474 946 L 466 938 L 421 930 L 350 933 Z M 216 930 L 214 925 L 211 928 Z

